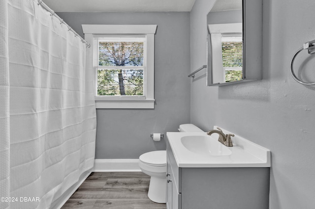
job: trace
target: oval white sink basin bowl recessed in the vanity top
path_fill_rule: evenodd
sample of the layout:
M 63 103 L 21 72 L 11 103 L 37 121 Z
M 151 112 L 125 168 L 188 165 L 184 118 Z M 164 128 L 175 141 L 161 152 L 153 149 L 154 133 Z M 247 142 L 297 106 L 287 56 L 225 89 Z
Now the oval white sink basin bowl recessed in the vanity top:
M 228 156 L 232 154 L 221 142 L 207 136 L 183 136 L 181 142 L 190 152 L 199 155 Z

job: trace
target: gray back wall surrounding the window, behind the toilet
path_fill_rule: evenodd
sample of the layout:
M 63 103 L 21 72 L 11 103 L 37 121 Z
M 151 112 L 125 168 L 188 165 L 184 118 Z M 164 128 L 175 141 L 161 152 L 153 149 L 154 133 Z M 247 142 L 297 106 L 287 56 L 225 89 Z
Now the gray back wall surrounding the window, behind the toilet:
M 155 109 L 97 109 L 95 158 L 138 158 L 165 150 L 150 133 L 177 131 L 189 123 L 189 12 L 72 13 L 58 15 L 84 37 L 82 24 L 157 24 L 155 37 Z

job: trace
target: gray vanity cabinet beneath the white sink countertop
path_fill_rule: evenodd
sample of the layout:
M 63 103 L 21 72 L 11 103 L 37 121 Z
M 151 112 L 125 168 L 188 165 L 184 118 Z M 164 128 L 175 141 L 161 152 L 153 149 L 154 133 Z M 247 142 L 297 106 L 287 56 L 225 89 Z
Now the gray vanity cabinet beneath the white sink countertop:
M 167 141 L 167 209 L 268 209 L 269 168 L 181 168 Z

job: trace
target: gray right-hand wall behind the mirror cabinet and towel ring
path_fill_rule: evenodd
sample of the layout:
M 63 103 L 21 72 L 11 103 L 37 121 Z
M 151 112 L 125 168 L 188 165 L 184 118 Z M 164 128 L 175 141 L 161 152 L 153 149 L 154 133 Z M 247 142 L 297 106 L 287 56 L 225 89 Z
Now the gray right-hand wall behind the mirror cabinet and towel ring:
M 191 71 L 207 63 L 214 1 L 196 0 L 190 13 Z M 314 0 L 263 0 L 262 80 L 206 87 L 200 74 L 191 82 L 191 123 L 204 131 L 221 126 L 271 150 L 270 209 L 315 208 L 315 87 L 294 81 L 288 69 L 294 52 L 315 39 L 314 8 Z M 314 63 L 304 52 L 294 66 L 315 81 Z

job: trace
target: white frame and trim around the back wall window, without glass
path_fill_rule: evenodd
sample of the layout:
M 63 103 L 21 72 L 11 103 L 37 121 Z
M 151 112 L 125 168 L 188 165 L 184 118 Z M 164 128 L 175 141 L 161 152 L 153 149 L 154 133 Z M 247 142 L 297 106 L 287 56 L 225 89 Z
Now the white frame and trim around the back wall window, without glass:
M 94 72 L 94 86 L 96 85 L 97 72 L 94 67 L 95 62 L 95 37 L 105 36 L 133 36 L 145 37 L 147 42 L 147 74 L 144 83 L 145 97 L 119 97 L 109 98 L 106 96 L 96 96 L 94 89 L 96 108 L 154 108 L 154 46 L 157 25 L 82 25 L 85 40 L 91 43 L 87 48 L 86 67 Z

